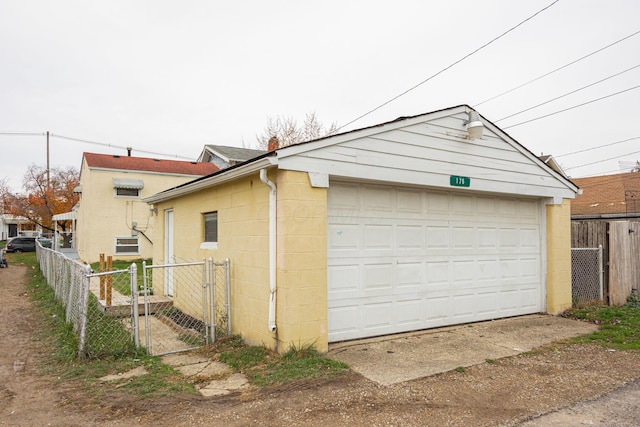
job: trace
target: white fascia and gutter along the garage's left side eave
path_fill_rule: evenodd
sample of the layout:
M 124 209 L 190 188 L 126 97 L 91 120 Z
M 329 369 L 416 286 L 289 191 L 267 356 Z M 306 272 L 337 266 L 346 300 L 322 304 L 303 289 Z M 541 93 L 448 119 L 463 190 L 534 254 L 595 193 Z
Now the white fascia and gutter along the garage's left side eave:
M 164 202 L 166 200 L 175 199 L 176 197 L 180 197 L 185 194 L 195 193 L 196 191 L 200 191 L 205 188 L 213 187 L 224 182 L 251 175 L 263 168 L 270 168 L 277 165 L 277 157 L 265 157 L 237 168 L 223 169 L 223 172 L 217 175 L 205 179 L 196 180 L 195 182 L 184 184 L 182 186 L 171 188 L 169 190 L 165 190 L 163 192 L 154 194 L 153 196 L 144 198 L 142 199 L 142 201 L 148 204 Z

